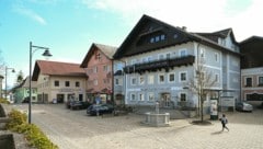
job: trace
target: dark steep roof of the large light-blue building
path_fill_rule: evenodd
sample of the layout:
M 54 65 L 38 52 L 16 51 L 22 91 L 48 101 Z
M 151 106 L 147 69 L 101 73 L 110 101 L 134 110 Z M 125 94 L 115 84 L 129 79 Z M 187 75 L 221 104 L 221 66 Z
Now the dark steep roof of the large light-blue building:
M 147 23 L 148 24 L 149 23 L 155 24 L 156 26 L 159 26 L 159 27 L 156 27 L 156 28 L 151 30 L 151 27 L 148 26 L 149 30 L 145 30 L 144 27 L 147 26 L 146 25 Z M 158 43 L 155 46 L 153 46 L 153 44 L 145 46 L 145 47 L 134 46 L 135 45 L 134 43 L 138 42 L 138 39 L 140 39 L 140 37 L 147 36 L 149 34 L 153 34 L 155 32 L 162 32 L 164 30 L 167 30 L 167 34 L 169 34 L 170 37 L 172 37 L 171 33 L 179 34 L 179 37 L 176 37 L 174 39 L 168 39 L 168 41 L 162 42 L 162 43 Z M 211 34 L 217 34 L 217 35 L 220 35 L 220 36 L 225 36 L 230 31 L 231 31 L 231 28 L 227 28 L 227 30 L 218 31 L 218 32 L 215 32 L 215 33 L 211 33 Z M 232 34 L 232 32 L 230 34 Z M 233 39 L 235 39 L 235 37 L 233 37 Z M 155 18 L 151 18 L 151 16 L 148 16 L 148 15 L 144 14 L 142 18 L 138 21 L 138 23 L 135 25 L 135 27 L 132 30 L 132 32 L 128 34 L 128 36 L 125 38 L 125 41 L 119 46 L 119 48 L 117 49 L 117 51 L 115 53 L 115 55 L 113 57 L 117 59 L 117 58 L 122 58 L 122 57 L 126 57 L 126 56 L 133 56 L 133 55 L 141 54 L 141 53 L 157 50 L 157 49 L 160 49 L 160 48 L 163 48 L 163 47 L 180 45 L 180 44 L 183 44 L 183 43 L 194 42 L 194 41 L 199 42 L 204 45 L 215 47 L 215 48 L 220 49 L 220 50 L 226 51 L 226 53 L 231 53 L 231 54 L 235 54 L 235 55 L 239 55 L 238 53 L 232 51 L 229 48 L 219 45 L 217 43 L 217 41 L 213 41 L 213 39 L 210 39 L 206 36 L 203 36 L 198 33 L 186 32 L 185 30 L 183 30 L 181 27 L 172 26 L 172 25 L 170 25 L 168 23 L 164 23 L 160 20 L 157 20 Z M 134 47 L 129 47 L 130 44 L 134 44 L 134 45 L 132 45 Z

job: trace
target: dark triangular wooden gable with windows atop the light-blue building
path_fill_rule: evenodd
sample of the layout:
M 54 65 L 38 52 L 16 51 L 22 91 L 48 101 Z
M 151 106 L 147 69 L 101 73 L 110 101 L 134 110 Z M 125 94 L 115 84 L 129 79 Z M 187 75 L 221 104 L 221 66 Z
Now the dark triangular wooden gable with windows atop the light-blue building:
M 114 58 L 133 56 L 193 41 L 182 28 L 144 15 L 117 49 Z

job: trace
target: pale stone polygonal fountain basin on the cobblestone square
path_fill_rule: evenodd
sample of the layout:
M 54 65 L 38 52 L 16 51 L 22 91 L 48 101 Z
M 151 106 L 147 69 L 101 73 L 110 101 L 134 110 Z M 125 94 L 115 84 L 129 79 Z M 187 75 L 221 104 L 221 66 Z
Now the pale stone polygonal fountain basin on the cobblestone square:
M 142 124 L 153 127 L 165 127 L 170 125 L 170 113 L 146 113 L 146 119 Z

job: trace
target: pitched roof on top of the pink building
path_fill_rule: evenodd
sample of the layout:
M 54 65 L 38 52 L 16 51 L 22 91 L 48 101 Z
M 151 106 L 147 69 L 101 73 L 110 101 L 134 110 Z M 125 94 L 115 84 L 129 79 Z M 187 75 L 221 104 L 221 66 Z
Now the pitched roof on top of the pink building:
M 81 68 L 85 68 L 88 66 L 88 62 L 95 49 L 101 50 L 108 59 L 113 59 L 113 55 L 115 54 L 117 47 L 93 43 L 80 65 Z

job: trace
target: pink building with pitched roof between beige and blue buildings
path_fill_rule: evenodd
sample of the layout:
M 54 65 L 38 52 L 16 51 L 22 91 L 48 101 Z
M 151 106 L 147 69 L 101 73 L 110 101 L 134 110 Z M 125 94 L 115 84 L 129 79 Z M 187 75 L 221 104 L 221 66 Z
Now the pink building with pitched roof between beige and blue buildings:
M 87 96 L 91 102 L 113 102 L 113 55 L 116 47 L 92 44 L 80 67 L 88 76 Z

